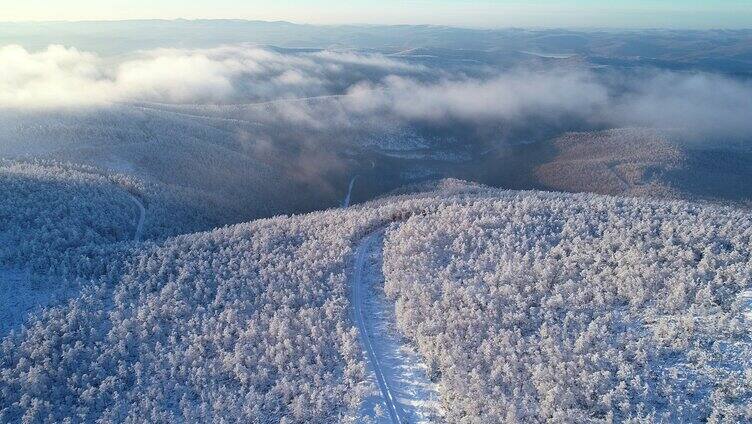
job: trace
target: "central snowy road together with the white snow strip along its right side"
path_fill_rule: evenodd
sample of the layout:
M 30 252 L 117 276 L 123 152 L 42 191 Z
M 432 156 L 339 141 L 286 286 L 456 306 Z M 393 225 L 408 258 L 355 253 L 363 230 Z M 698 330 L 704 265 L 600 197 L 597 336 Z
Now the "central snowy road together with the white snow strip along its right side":
M 395 328 L 394 305 L 384 297 L 383 231 L 358 245 L 353 270 L 355 322 L 378 390 L 364 399 L 358 422 L 441 421 L 438 388 L 420 356 Z

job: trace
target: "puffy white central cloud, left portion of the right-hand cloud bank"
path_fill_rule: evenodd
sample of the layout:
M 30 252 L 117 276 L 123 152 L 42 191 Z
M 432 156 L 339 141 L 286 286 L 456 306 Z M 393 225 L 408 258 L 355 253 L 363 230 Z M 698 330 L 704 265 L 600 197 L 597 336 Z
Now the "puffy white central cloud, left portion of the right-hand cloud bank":
M 408 119 L 519 119 L 587 114 L 608 103 L 604 86 L 584 72 L 512 72 L 489 80 L 420 83 L 403 77 L 354 86 L 347 101 L 360 113 L 390 109 Z

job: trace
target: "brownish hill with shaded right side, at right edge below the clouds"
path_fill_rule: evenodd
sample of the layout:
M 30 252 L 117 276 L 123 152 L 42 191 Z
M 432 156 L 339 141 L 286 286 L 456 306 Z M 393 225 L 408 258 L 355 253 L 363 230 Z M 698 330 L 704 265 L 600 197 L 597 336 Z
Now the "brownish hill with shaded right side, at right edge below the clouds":
M 535 171 L 553 190 L 653 198 L 752 199 L 752 153 L 684 141 L 680 131 L 624 128 L 568 133 Z

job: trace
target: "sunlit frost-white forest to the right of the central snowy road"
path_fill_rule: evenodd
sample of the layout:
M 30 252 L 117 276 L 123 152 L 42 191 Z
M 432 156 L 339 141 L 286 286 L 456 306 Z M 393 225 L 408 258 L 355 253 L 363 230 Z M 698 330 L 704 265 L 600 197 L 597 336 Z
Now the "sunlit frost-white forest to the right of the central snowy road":
M 509 194 L 395 224 L 385 290 L 450 422 L 748 422 L 752 221 Z

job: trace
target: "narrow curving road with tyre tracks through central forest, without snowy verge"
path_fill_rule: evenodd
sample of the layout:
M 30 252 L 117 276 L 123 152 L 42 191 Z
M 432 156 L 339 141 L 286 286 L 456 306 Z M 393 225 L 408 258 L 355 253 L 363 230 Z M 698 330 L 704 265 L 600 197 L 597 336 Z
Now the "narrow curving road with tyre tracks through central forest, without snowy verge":
M 363 347 L 366 350 L 368 356 L 368 362 L 371 363 L 371 368 L 376 375 L 376 382 L 381 391 L 382 398 L 386 404 L 386 409 L 393 424 L 405 423 L 403 418 L 402 407 L 397 402 L 394 390 L 389 386 L 389 382 L 384 377 L 384 371 L 381 368 L 378 357 L 373 346 L 373 337 L 368 332 L 368 327 L 365 324 L 363 314 L 363 270 L 365 269 L 366 258 L 368 252 L 371 250 L 373 241 L 378 238 L 379 232 L 374 232 L 364 238 L 358 245 L 358 249 L 355 253 L 355 264 L 353 269 L 353 282 L 352 282 L 352 298 L 355 310 L 355 323 L 360 332 L 360 338 L 363 343 Z

